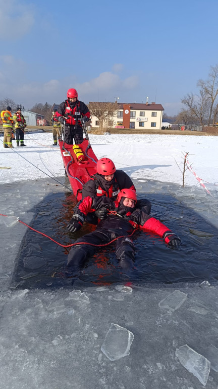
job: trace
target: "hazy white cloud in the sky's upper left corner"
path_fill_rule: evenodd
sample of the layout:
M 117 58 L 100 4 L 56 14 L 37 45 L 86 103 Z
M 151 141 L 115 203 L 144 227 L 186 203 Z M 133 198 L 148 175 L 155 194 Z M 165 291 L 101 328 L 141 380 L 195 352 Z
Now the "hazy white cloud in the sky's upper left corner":
M 19 39 L 34 24 L 34 11 L 31 5 L 16 0 L 0 0 L 1 39 Z

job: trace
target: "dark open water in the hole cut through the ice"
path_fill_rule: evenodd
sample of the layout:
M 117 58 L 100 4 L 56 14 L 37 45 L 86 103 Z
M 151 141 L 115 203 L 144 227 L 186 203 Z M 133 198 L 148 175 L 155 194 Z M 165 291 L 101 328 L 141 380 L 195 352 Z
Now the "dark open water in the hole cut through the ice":
M 180 250 L 173 250 L 161 238 L 136 231 L 135 269 L 122 273 L 111 244 L 89 259 L 79 275 L 66 278 L 65 263 L 69 249 L 27 229 L 15 260 L 12 287 L 42 288 L 75 285 L 108 285 L 118 282 L 178 283 L 215 282 L 218 279 L 218 201 L 203 188 L 181 188 L 174 184 L 134 181 L 138 198 L 152 203 L 151 216 L 172 229 L 182 240 Z M 28 183 L 26 183 L 27 185 Z M 31 226 L 62 245 L 69 245 L 94 229 L 85 224 L 71 234 L 66 226 L 73 214 L 75 197 L 66 189 L 48 193 L 31 211 Z M 20 215 L 20 220 L 22 220 Z M 11 227 L 13 228 L 13 227 Z

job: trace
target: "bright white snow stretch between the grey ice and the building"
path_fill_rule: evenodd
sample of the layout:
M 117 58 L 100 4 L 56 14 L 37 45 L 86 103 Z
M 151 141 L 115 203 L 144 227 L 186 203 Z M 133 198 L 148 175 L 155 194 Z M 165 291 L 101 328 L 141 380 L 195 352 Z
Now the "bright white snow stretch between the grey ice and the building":
M 1 169 L 0 182 L 44 178 L 43 172 L 52 177 L 62 176 L 61 153 L 52 143 L 51 133 L 36 133 L 25 135 L 27 147 L 2 148 L 0 167 L 11 169 Z M 124 170 L 131 178 L 182 184 L 177 164 L 183 170 L 183 154 L 189 152 L 188 160 L 197 176 L 211 184 L 218 182 L 217 136 L 90 135 L 90 143 L 98 159 L 111 158 L 117 169 Z M 200 185 L 189 171 L 185 184 Z

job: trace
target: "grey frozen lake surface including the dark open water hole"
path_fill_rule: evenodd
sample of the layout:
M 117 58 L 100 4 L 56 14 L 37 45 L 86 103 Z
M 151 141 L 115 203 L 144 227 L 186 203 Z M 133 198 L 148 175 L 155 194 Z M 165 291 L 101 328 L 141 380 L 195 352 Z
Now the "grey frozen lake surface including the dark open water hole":
M 171 250 L 136 232 L 130 278 L 120 273 L 113 247 L 79 277 L 61 278 L 66 249 L 1 217 L 4 389 L 29 388 L 30 381 L 33 389 L 217 388 L 217 191 L 210 188 L 210 197 L 196 187 L 134 183 L 183 245 Z M 62 244 L 93 228 L 66 232 L 75 199 L 51 179 L 0 186 L 1 213 Z

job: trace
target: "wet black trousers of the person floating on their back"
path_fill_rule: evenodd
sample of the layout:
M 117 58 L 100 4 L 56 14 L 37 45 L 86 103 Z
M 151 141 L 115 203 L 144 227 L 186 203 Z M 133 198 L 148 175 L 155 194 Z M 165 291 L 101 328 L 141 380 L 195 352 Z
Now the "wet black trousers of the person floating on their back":
M 103 232 L 100 230 L 95 230 L 90 232 L 90 234 L 84 235 L 84 237 L 77 239 L 75 243 L 85 242 L 87 244 L 78 244 L 71 248 L 68 254 L 67 267 L 81 268 L 88 257 L 94 255 L 96 250 L 100 249 L 100 247 L 91 246 L 88 243 L 100 245 L 109 243 L 115 238 L 116 235 L 114 232 L 107 230 L 104 230 Z M 129 271 L 133 268 L 135 247 L 130 238 L 118 238 L 115 254 L 123 270 Z

